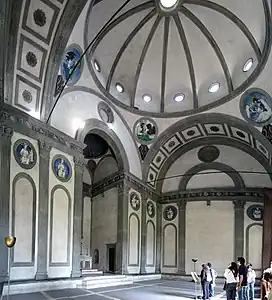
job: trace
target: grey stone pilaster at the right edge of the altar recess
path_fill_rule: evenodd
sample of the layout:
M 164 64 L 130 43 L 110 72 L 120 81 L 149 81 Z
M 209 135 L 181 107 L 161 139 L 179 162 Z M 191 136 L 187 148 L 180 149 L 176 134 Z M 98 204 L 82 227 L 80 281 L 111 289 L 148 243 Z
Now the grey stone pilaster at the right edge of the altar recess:
M 128 187 L 125 182 L 118 189 L 118 217 L 117 217 L 117 245 L 116 245 L 116 271 L 127 273 L 128 257 Z

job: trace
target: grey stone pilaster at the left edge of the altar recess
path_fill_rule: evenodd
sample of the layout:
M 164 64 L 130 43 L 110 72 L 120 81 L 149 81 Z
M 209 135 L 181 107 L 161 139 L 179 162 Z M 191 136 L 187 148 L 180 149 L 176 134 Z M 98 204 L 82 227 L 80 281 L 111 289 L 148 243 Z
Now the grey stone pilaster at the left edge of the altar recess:
M 80 277 L 80 252 L 81 252 L 81 219 L 82 219 L 82 192 L 84 159 L 74 157 L 75 181 L 74 181 L 74 216 L 73 216 L 73 252 L 71 277 Z

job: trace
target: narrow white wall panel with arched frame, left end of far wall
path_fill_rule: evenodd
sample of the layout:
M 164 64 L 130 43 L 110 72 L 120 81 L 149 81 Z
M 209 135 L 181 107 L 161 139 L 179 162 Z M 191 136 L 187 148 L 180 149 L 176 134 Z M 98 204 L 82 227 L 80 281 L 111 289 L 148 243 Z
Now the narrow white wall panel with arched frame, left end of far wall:
M 162 206 L 162 212 L 167 205 Z M 176 206 L 176 204 L 173 204 Z M 178 271 L 178 218 L 169 222 L 163 218 L 162 213 L 162 273 L 176 273 Z M 176 229 L 175 229 L 176 227 Z

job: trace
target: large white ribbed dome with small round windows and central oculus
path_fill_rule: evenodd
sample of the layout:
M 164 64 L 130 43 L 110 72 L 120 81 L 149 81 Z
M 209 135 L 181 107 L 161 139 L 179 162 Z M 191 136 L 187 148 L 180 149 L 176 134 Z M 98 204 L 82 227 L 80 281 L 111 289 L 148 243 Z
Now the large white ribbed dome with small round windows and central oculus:
M 90 7 L 85 47 L 124 2 Z M 99 34 L 88 66 L 99 89 L 128 110 L 157 117 L 204 111 L 261 72 L 269 10 L 267 0 L 131 0 Z

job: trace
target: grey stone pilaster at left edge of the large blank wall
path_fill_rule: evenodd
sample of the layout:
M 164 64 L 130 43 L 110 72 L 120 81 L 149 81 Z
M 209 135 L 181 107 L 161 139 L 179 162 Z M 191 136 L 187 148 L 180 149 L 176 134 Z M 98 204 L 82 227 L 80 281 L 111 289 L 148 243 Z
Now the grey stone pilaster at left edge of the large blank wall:
M 186 201 L 178 202 L 178 273 L 185 275 Z

